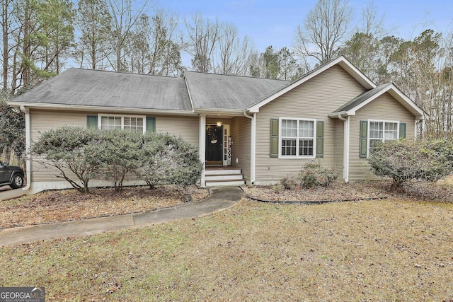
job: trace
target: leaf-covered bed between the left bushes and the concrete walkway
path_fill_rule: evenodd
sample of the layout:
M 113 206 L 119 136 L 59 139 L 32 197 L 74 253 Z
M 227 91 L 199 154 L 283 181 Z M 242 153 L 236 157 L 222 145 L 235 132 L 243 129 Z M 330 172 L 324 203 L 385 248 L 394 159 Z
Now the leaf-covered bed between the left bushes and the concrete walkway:
M 183 196 L 190 194 L 193 202 L 208 195 L 206 189 L 196 186 L 165 185 L 149 190 L 148 187 L 125 187 L 123 192 L 114 189 L 92 189 L 91 194 L 76 190 L 40 192 L 0 203 L 0 228 L 31 226 L 115 216 L 173 207 L 183 203 Z

